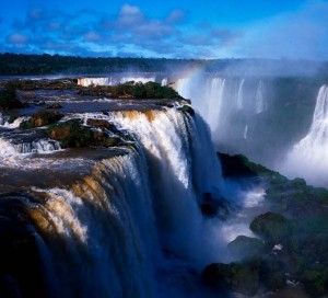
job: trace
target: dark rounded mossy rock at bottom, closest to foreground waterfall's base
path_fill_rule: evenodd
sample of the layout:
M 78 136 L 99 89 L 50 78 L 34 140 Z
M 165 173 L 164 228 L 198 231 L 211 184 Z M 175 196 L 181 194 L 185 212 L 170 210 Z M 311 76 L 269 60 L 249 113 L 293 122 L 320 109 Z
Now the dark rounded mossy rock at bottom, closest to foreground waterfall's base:
M 259 268 L 258 260 L 244 264 L 211 264 L 204 268 L 202 280 L 220 293 L 237 291 L 254 296 L 259 287 Z

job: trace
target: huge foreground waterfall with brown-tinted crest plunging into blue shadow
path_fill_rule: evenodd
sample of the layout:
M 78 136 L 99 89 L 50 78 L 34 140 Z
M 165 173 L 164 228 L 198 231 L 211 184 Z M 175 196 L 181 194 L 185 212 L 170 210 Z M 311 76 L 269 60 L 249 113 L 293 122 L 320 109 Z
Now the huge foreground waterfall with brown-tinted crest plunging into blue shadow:
M 208 257 L 199 205 L 223 192 L 208 127 L 175 108 L 72 117 L 107 119 L 134 142 L 70 186 L 32 188 L 42 199 L 28 214 L 56 277 L 52 295 L 159 297 L 163 250 L 191 263 Z

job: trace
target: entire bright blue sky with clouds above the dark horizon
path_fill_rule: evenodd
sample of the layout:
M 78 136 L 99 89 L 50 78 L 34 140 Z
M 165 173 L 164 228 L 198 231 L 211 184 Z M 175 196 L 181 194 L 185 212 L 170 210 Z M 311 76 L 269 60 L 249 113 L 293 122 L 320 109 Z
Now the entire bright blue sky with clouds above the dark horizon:
M 0 53 L 328 60 L 328 0 L 1 0 Z

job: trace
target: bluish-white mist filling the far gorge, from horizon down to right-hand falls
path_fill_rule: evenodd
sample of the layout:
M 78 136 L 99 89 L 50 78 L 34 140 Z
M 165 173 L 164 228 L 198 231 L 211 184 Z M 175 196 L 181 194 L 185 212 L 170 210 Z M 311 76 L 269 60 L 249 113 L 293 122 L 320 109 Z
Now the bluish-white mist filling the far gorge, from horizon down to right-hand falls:
M 174 85 L 209 124 L 216 150 L 243 153 L 290 177 L 327 185 L 323 176 L 328 167 L 320 162 L 327 160 L 328 148 L 321 127 L 326 91 L 316 107 L 319 90 L 327 83 L 326 64 L 246 59 L 221 62 L 218 69 L 218 62 L 208 65 Z

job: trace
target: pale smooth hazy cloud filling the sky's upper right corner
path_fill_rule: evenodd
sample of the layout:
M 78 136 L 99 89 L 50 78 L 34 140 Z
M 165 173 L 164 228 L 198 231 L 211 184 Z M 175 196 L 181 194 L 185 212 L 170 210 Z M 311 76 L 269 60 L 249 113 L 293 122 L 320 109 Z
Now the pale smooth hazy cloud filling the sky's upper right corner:
M 249 25 L 233 51 L 238 56 L 263 58 L 327 59 L 327 15 L 326 1 L 308 1 L 297 12 Z

